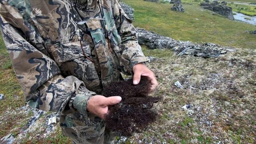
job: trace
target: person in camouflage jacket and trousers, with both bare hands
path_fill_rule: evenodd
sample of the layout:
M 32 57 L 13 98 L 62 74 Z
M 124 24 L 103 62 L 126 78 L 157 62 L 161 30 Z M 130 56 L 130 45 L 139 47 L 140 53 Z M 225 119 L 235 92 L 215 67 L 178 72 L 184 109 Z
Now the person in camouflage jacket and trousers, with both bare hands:
M 0 26 L 27 103 L 59 112 L 74 143 L 114 142 L 104 117 L 121 97 L 100 94 L 120 72 L 158 85 L 117 0 L 0 0 Z

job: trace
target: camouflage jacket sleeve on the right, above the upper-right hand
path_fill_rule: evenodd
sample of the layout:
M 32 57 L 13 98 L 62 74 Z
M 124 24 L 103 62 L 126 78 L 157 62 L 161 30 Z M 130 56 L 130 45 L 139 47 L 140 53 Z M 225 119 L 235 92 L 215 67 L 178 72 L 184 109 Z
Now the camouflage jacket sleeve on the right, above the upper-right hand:
M 123 51 L 120 58 L 120 66 L 125 74 L 133 74 L 132 67 L 135 64 L 147 62 L 148 58 L 144 56 L 138 44 L 138 34 L 132 25 L 132 19 L 128 18 L 117 0 L 114 0 L 113 14 L 118 34 L 122 40 Z

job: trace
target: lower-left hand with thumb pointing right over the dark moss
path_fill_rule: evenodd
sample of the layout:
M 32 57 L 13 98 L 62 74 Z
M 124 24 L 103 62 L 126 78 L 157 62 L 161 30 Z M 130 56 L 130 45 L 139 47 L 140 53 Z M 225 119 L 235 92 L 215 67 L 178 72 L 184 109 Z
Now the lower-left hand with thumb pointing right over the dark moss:
M 106 98 L 105 96 L 95 95 L 88 100 L 87 110 L 90 113 L 105 119 L 106 114 L 108 113 L 108 106 L 117 104 L 121 100 L 122 98 L 120 96 L 111 96 Z

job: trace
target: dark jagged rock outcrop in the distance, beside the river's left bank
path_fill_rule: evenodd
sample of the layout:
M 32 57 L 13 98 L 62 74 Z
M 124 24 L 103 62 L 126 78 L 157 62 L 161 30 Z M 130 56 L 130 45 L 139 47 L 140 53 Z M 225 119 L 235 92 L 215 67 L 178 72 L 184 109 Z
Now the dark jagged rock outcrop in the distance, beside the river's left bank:
M 218 1 L 213 1 L 212 3 L 207 1 L 207 2 L 201 3 L 200 6 L 207 10 L 211 10 L 213 12 L 216 12 L 217 14 L 225 16 L 230 20 L 234 20 L 232 8 L 229 6 L 226 6 L 226 4 L 227 2 L 221 2 L 220 4 Z

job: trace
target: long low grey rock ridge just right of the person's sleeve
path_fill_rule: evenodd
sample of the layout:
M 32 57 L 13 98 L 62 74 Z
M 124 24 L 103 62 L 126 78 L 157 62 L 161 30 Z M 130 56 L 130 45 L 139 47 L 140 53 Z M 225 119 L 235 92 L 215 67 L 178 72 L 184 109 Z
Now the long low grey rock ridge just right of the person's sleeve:
M 179 41 L 166 36 L 158 35 L 154 32 L 137 28 L 139 44 L 146 45 L 150 49 L 169 48 L 178 55 L 194 55 L 204 58 L 218 57 L 227 52 L 236 50 L 230 47 L 222 47 L 212 43 L 193 44 L 188 41 Z

